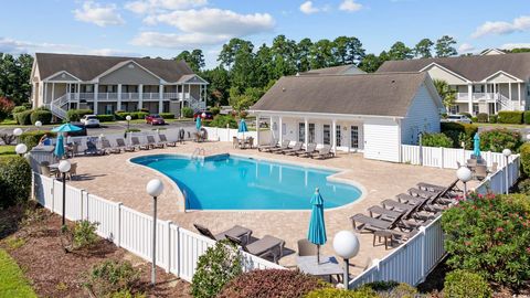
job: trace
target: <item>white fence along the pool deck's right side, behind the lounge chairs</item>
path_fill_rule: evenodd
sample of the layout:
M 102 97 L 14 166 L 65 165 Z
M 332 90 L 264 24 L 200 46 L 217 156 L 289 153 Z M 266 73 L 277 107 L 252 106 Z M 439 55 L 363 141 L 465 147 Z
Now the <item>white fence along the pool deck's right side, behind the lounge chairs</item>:
M 513 185 L 519 178 L 519 156 L 512 156 L 508 167 L 499 169 L 485 179 L 476 191 L 504 193 L 507 185 L 506 173 L 508 172 L 509 175 L 509 185 Z M 417 285 L 425 279 L 444 255 L 444 232 L 442 216 L 439 216 L 425 228 L 422 227 L 414 237 L 357 276 L 350 281 L 349 287 L 357 288 L 367 283 L 381 280 Z

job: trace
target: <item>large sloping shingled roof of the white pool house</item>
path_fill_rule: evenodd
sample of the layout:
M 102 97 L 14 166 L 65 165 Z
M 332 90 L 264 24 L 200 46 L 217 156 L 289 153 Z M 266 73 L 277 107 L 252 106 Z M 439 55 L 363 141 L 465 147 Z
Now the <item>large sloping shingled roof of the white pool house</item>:
M 405 117 L 426 79 L 427 73 L 285 76 L 251 110 Z

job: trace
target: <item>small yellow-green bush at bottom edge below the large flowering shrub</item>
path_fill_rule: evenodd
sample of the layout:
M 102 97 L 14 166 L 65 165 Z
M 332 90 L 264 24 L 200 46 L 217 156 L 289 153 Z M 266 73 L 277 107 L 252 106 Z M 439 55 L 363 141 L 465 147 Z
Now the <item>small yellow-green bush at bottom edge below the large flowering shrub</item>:
M 488 298 L 491 297 L 491 288 L 478 274 L 454 270 L 445 277 L 444 294 L 452 298 Z

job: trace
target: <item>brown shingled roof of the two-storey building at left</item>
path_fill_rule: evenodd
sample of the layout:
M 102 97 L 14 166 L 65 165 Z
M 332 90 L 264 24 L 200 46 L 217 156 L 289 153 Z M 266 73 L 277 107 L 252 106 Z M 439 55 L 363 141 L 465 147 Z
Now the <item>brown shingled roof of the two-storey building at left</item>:
M 36 53 L 35 60 L 41 78 L 65 71 L 82 81 L 91 81 L 116 64 L 126 61 L 138 63 L 169 83 L 179 81 L 183 75 L 193 74 L 184 61 L 174 60 L 51 53 Z

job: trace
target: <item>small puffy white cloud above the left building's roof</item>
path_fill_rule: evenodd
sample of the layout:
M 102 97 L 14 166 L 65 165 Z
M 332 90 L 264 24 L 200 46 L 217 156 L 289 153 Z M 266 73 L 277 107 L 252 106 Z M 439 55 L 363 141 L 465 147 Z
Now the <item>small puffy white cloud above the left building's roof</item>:
M 94 23 L 98 26 L 119 25 L 125 21 L 116 12 L 116 4 L 99 4 L 93 1 L 85 1 L 82 9 L 74 10 L 76 20 L 87 23 Z

